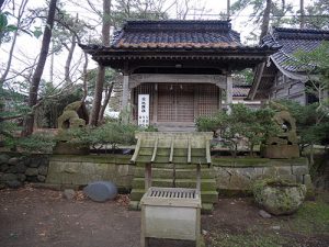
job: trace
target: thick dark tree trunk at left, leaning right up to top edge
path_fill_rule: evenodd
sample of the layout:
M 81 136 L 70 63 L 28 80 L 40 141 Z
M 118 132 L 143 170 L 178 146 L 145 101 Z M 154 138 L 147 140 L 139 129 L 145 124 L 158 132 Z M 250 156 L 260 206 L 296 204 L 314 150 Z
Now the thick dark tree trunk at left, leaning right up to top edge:
M 50 2 L 49 2 L 49 12 L 48 12 L 47 22 L 46 22 L 46 26 L 45 26 L 45 31 L 44 31 L 41 54 L 39 54 L 39 58 L 38 58 L 36 68 L 34 70 L 31 86 L 30 86 L 29 106 L 32 109 L 32 113 L 27 114 L 24 120 L 22 136 L 27 136 L 33 133 L 33 124 L 34 124 L 33 106 L 37 103 L 38 86 L 39 86 L 39 81 L 41 81 L 41 78 L 42 78 L 42 75 L 44 71 L 44 67 L 45 67 L 48 50 L 49 50 L 52 30 L 54 26 L 54 18 L 55 18 L 55 12 L 56 12 L 56 3 L 57 3 L 57 0 L 50 0 Z

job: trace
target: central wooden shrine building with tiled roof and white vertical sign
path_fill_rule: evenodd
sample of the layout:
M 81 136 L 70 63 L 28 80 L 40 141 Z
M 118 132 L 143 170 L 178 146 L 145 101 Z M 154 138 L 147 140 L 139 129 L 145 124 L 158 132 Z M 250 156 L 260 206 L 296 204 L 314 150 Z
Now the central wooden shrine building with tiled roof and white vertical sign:
M 193 131 L 197 116 L 229 111 L 232 72 L 277 50 L 242 45 L 230 21 L 128 21 L 110 46 L 80 46 L 123 74 L 122 110 L 159 131 Z

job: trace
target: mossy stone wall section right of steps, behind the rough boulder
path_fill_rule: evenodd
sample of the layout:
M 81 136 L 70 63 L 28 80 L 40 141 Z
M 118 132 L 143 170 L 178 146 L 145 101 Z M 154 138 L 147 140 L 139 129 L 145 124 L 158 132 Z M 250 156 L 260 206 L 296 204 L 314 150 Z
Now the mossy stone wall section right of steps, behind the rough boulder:
M 261 178 L 280 177 L 311 188 L 306 158 L 213 158 L 217 190 L 226 192 L 250 192 L 253 181 Z

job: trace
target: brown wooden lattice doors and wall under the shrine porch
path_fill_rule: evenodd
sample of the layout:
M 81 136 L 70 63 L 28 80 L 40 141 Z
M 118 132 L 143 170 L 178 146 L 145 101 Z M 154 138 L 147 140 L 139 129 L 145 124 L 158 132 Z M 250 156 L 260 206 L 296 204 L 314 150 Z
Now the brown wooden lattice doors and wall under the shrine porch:
M 154 122 L 155 96 L 157 122 L 194 122 L 198 115 L 218 111 L 219 88 L 209 83 L 143 83 L 134 89 L 134 119 L 137 120 L 138 94 L 150 94 L 150 121 Z

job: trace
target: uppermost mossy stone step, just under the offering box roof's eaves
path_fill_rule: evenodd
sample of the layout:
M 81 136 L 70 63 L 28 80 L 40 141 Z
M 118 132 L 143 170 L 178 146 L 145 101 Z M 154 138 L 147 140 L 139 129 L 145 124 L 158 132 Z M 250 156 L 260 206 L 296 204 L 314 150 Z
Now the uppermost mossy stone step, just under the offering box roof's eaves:
M 136 167 L 135 178 L 144 178 L 145 176 L 145 168 L 143 167 Z M 164 178 L 169 179 L 173 177 L 173 169 L 172 168 L 152 168 L 152 178 Z M 194 179 L 196 177 L 196 169 L 194 168 L 178 168 L 175 169 L 175 178 L 182 178 L 182 179 Z M 208 168 L 202 168 L 201 169 L 201 178 L 208 179 L 214 178 L 214 172 L 211 172 L 211 169 Z

